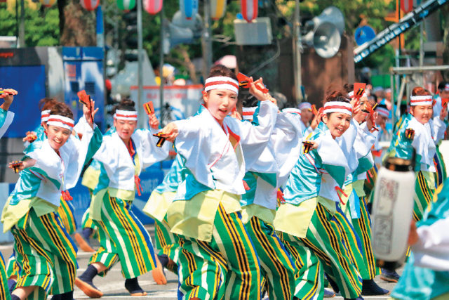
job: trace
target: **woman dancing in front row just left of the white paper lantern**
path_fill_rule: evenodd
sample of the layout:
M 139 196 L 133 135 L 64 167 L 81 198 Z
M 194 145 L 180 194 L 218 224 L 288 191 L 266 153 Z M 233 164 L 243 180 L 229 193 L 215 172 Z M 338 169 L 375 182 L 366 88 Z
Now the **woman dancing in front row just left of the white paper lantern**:
M 360 110 L 356 104 L 354 101 L 354 113 Z M 299 299 L 323 298 L 324 272 L 336 282 L 344 298 L 356 299 L 361 294 L 360 275 L 342 244 L 345 233 L 334 218 L 349 172 L 344 152 L 354 144 L 354 139 L 342 138 L 352 113 L 346 93 L 328 93 L 323 122 L 310 138 L 313 149 L 300 154 L 284 190 L 285 202 L 274 219 L 274 228 L 283 233 L 297 264 L 295 296 Z

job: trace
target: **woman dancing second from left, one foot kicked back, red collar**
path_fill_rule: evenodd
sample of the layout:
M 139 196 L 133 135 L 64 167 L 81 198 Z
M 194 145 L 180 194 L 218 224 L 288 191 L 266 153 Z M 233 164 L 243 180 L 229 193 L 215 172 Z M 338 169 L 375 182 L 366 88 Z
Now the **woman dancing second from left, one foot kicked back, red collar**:
M 101 247 L 75 281 L 77 287 L 93 298 L 102 296 L 93 285 L 93 278 L 106 275 L 117 261 L 126 278 L 125 287 L 133 296 L 146 294 L 138 276 L 156 268 L 151 238 L 131 211 L 131 204 L 136 190 L 140 193 L 140 171 L 165 159 L 170 143 L 156 147 L 158 138 L 150 130 L 136 130 L 137 120 L 134 102 L 123 99 L 114 113 L 116 131 L 104 136 L 94 157 L 101 167 L 89 216 L 98 228 Z M 149 116 L 149 124 L 159 126 L 154 114 Z

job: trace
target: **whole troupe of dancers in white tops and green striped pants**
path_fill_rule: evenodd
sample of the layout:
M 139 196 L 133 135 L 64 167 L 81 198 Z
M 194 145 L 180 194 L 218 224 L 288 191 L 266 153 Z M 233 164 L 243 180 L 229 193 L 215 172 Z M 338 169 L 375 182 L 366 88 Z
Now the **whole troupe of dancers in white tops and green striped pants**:
M 11 164 L 20 174 L 1 221 L 13 234 L 14 252 L 7 265 L 0 260 L 0 298 L 51 294 L 71 300 L 75 285 L 99 298 L 103 292 L 95 276 L 107 275 L 116 263 L 133 296 L 147 294 L 138 277 L 150 270 L 156 283 L 165 284 L 164 269 L 179 278 L 178 299 L 389 294 L 374 281 L 381 270 L 368 209 L 377 172 L 372 152 L 389 116 L 387 106 L 346 85 L 326 91 L 319 110 L 301 103 L 280 111 L 262 79 L 245 84 L 249 94 L 239 96 L 242 82 L 216 65 L 193 117 L 159 129 L 149 112 L 149 129 L 138 129 L 135 103 L 125 99 L 114 110 L 114 127 L 104 134 L 95 125 L 90 98 L 83 97 L 83 117 L 76 124 L 67 105 L 43 99 L 41 126 L 25 138 L 24 157 Z M 16 94 L 3 91 L 1 134 L 12 122 L 8 107 Z M 449 84 L 443 93 L 449 94 Z M 442 99 L 415 87 L 387 151 L 416 159 L 415 221 L 429 218 L 433 200 L 447 202 L 438 152 L 448 124 Z M 173 165 L 143 209 L 155 221 L 155 252 L 130 208 L 142 191 L 142 169 L 166 159 L 172 146 Z M 68 190 L 80 176 L 91 193 L 83 236 L 95 232 L 100 248 L 76 277 Z M 384 271 L 385 279 L 398 280 L 394 270 Z M 407 287 L 401 280 L 398 286 Z

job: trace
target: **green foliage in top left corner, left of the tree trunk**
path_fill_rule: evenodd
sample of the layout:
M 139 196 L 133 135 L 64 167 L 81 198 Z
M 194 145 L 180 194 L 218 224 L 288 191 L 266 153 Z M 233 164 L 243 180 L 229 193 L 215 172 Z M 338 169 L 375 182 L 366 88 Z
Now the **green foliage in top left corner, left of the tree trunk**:
M 20 15 L 0 6 L 2 21 L 0 35 L 18 36 Z M 29 8 L 25 2 L 25 43 L 27 47 L 56 46 L 59 44 L 59 13 L 53 6 L 46 8 L 37 4 L 38 9 Z M 18 10 L 20 12 L 20 8 Z

